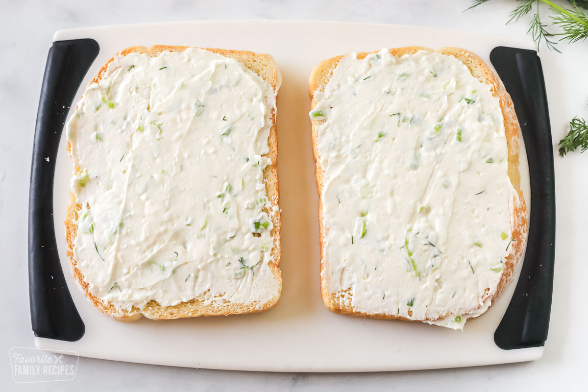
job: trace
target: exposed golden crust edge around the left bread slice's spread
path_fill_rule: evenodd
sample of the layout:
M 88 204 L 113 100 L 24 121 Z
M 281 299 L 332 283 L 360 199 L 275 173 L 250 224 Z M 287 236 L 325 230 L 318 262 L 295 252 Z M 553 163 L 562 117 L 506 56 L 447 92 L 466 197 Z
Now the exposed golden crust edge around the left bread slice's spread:
M 145 53 L 149 56 L 158 56 L 163 52 L 183 52 L 192 46 L 169 46 L 169 45 L 152 45 L 150 48 L 146 46 L 131 46 L 123 49 L 115 56 L 128 55 L 129 53 Z M 215 49 L 215 48 L 197 48 L 204 49 L 209 52 L 218 53 L 225 57 L 229 57 L 243 63 L 248 69 L 257 73 L 261 78 L 268 82 L 273 91 L 276 93 L 276 100 L 278 99 L 278 69 L 276 68 L 275 62 L 272 56 L 254 53 L 249 51 L 233 51 L 226 49 Z M 115 56 L 112 56 L 105 65 L 96 72 L 96 75 L 92 78 L 92 83 L 98 83 L 103 74 L 108 69 L 108 65 L 114 60 Z M 82 96 L 83 98 L 83 96 Z M 276 128 L 276 110 L 272 109 L 272 127 L 270 128 L 268 137 L 269 152 L 264 155 L 268 157 L 272 164 L 268 165 L 263 169 L 263 180 L 266 186 L 266 196 L 272 203 L 272 207 L 275 207 L 276 212 L 269 214 L 269 211 L 264 208 L 268 216 L 272 216 L 273 228 L 270 234 L 273 237 L 272 257 L 273 262 L 269 262 L 269 267 L 272 269 L 275 279 L 278 280 L 278 294 L 273 297 L 272 300 L 260 304 L 256 301 L 248 306 L 242 304 L 233 304 L 226 300 L 222 303 L 216 304 L 215 307 L 211 307 L 205 304 L 206 293 L 201 296 L 192 299 L 188 302 L 182 302 L 174 306 L 161 306 L 157 301 L 152 300 L 143 309 L 133 307 L 130 311 L 118 310 L 112 304 L 105 303 L 98 297 L 94 296 L 89 290 L 89 284 L 85 281 L 82 272 L 78 269 L 78 262 L 74 257 L 74 242 L 78 233 L 78 225 L 75 222 L 78 220 L 78 213 L 82 209 L 82 205 L 76 202 L 74 193 L 71 195 L 71 203 L 68 206 L 67 215 L 65 219 L 65 240 L 67 243 L 67 255 L 69 262 L 72 267 L 72 273 L 74 279 L 79 283 L 82 291 L 86 297 L 92 302 L 92 304 L 106 316 L 113 317 L 119 321 L 134 321 L 140 319 L 142 316 L 153 320 L 166 320 L 166 319 L 180 319 L 184 317 L 198 317 L 198 316 L 228 316 L 229 314 L 243 314 L 243 313 L 256 313 L 259 311 L 268 310 L 278 303 L 280 293 L 282 290 L 282 273 L 278 267 L 281 257 L 280 249 L 280 210 L 279 210 L 279 187 L 278 187 L 278 130 Z M 71 154 L 71 143 L 67 142 L 67 150 L 74 161 Z M 75 164 L 75 163 L 74 163 Z M 75 167 L 75 172 L 81 172 L 80 167 Z M 89 206 L 88 206 L 89 207 Z M 220 295 L 219 295 L 220 296 Z

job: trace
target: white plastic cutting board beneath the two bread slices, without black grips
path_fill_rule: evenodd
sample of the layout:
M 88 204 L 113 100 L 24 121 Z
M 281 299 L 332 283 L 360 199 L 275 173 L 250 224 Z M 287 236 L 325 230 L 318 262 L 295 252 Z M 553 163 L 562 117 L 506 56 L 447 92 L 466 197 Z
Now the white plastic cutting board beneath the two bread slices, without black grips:
M 457 46 L 490 63 L 489 54 L 495 46 L 533 49 L 532 41 L 407 26 L 292 21 L 109 26 L 58 31 L 54 41 L 76 38 L 95 39 L 100 54 L 75 101 L 94 73 L 127 46 L 188 45 L 246 49 L 274 56 L 283 77 L 278 98 L 283 290 L 278 305 L 265 313 L 170 321 L 143 318 L 133 323 L 103 316 L 74 282 L 65 255 L 63 221 L 72 168 L 63 135 L 55 174 L 55 232 L 65 278 L 86 333 L 76 342 L 35 338 L 37 347 L 119 361 L 263 371 L 409 370 L 509 363 L 542 356 L 543 347 L 501 350 L 494 343 L 494 331 L 515 284 L 486 314 L 467 321 L 463 332 L 409 321 L 339 316 L 323 306 L 318 196 L 308 118 L 308 76 L 316 63 L 331 56 L 409 45 Z M 526 164 L 525 156 L 522 162 Z M 529 200 L 526 167 L 522 173 Z

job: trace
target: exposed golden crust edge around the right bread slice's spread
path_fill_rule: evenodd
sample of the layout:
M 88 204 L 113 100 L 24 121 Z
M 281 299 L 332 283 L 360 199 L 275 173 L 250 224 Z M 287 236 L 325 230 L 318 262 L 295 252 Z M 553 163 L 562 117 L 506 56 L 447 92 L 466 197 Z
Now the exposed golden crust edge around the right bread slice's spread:
M 523 192 L 520 189 L 520 172 L 519 172 L 519 141 L 520 141 L 520 126 L 519 121 L 516 117 L 515 106 L 510 98 L 509 93 L 506 91 L 505 86 L 503 85 L 500 78 L 496 75 L 496 73 L 480 59 L 477 55 L 470 51 L 466 51 L 465 49 L 460 48 L 452 48 L 452 47 L 445 47 L 437 49 L 437 51 L 433 51 L 433 49 L 426 48 L 424 46 L 406 46 L 404 48 L 393 48 L 389 49 L 390 53 L 393 56 L 403 56 L 407 54 L 413 54 L 419 51 L 427 51 L 432 53 L 441 53 L 443 55 L 453 56 L 462 63 L 464 63 L 467 68 L 470 70 L 470 73 L 478 79 L 480 82 L 485 83 L 486 85 L 490 86 L 490 89 L 495 97 L 499 99 L 500 102 L 500 110 L 502 110 L 502 115 L 504 118 L 504 125 L 505 125 L 505 133 L 506 133 L 506 141 L 507 141 L 507 149 L 508 149 L 508 175 L 510 182 L 512 183 L 513 187 L 516 190 L 517 197 L 513 195 L 513 211 L 512 211 L 512 238 L 513 242 L 511 244 L 511 252 L 506 257 L 506 262 L 503 267 L 502 276 L 500 277 L 500 281 L 496 288 L 496 293 L 494 296 L 488 298 L 483 298 L 483 302 L 490 300 L 490 305 L 492 305 L 496 299 L 500 296 L 500 293 L 504 290 L 505 286 L 512 280 L 513 273 L 515 272 L 515 268 L 517 264 L 522 260 L 524 249 L 526 246 L 527 241 L 527 230 L 528 230 L 528 221 L 529 221 L 529 213 L 527 212 L 527 206 L 523 197 Z M 360 52 L 357 53 L 359 59 L 363 59 L 371 53 L 376 53 L 377 51 L 373 52 Z M 333 71 L 335 70 L 338 63 L 343 59 L 346 55 L 336 56 L 330 59 L 326 59 L 325 61 L 320 62 L 315 69 L 313 69 L 312 73 L 310 73 L 309 78 L 309 94 L 310 94 L 310 108 L 313 109 L 316 106 L 315 100 L 315 92 L 323 91 L 325 86 L 329 83 L 330 79 L 333 76 Z M 312 123 L 312 149 L 313 149 L 313 159 L 315 160 L 315 174 L 316 174 L 316 187 L 319 193 L 319 243 L 320 243 L 320 294 L 322 296 L 323 302 L 328 309 L 332 310 L 338 314 L 349 314 L 351 316 L 356 317 L 370 317 L 373 319 L 400 319 L 400 320 L 408 320 L 408 321 L 434 321 L 431 319 L 425 320 L 416 320 L 416 319 L 408 319 L 406 317 L 397 316 L 396 314 L 386 314 L 386 313 L 364 313 L 361 311 L 356 311 L 353 309 L 350 301 L 346 301 L 344 303 L 341 299 L 345 298 L 349 295 L 348 290 L 345 292 L 337 292 L 337 293 L 329 293 L 326 287 L 326 282 L 323 280 L 323 271 L 326 268 L 326 260 L 325 260 L 325 236 L 328 230 L 325 227 L 323 222 L 323 203 L 322 203 L 322 189 L 323 189 L 323 177 L 325 175 L 325 170 L 323 169 L 322 165 L 320 164 L 320 152 L 318 149 L 318 135 L 315 123 L 316 121 L 311 121 Z M 487 289 L 489 290 L 489 289 Z M 472 313 L 475 310 L 482 308 L 484 304 L 480 305 L 476 309 L 472 309 L 471 311 L 467 312 L 466 314 Z M 442 319 L 445 316 L 439 317 Z

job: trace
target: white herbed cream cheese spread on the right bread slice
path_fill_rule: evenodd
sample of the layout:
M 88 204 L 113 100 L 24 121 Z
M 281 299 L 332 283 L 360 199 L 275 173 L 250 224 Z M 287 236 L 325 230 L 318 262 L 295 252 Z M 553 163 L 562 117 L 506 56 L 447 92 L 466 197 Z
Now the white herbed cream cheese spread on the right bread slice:
M 326 292 L 461 329 L 490 305 L 510 253 L 499 100 L 453 56 L 387 49 L 343 58 L 315 100 Z

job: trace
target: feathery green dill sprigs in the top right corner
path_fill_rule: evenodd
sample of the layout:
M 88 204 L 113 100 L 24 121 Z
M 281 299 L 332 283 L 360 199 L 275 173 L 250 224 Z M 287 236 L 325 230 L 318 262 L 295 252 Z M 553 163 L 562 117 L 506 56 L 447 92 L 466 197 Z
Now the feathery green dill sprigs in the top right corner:
M 476 6 L 484 4 L 489 0 L 473 0 L 472 5 L 466 9 L 472 9 Z M 588 1 L 586 0 L 567 0 L 573 8 L 566 8 L 562 5 L 556 4 L 551 0 L 517 0 L 519 5 L 510 12 L 510 19 L 507 22 L 518 21 L 522 16 L 529 14 L 532 11 L 533 5 L 536 5 L 536 12 L 529 23 L 529 30 L 533 40 L 537 42 L 537 48 L 543 40 L 549 49 L 559 52 L 555 48 L 557 42 L 552 41 L 552 37 L 559 37 L 559 41 L 568 41 L 570 43 L 577 41 L 584 41 L 588 39 L 588 14 L 582 11 L 579 6 L 588 9 Z M 543 24 L 539 15 L 539 4 L 543 3 L 549 7 L 553 15 L 550 15 L 553 25 L 561 28 L 563 32 L 550 33 L 547 31 L 547 25 Z

